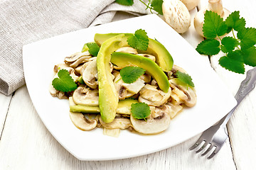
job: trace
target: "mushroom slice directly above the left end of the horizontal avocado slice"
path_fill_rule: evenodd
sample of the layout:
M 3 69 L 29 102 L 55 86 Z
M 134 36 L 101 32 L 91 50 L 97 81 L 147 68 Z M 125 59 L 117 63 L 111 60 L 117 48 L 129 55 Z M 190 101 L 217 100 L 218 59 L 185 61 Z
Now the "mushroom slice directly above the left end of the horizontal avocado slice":
M 99 106 L 99 91 L 98 89 L 91 90 L 84 85 L 80 85 L 74 91 L 73 100 L 78 105 Z

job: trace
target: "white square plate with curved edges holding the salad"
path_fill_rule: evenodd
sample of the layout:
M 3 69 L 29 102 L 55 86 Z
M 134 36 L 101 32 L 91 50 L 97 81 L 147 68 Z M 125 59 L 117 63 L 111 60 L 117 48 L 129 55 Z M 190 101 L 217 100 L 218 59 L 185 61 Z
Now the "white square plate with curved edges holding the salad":
M 80 52 L 95 33 L 134 33 L 146 30 L 149 38 L 161 42 L 174 58 L 174 64 L 191 75 L 198 101 L 171 121 L 159 135 L 138 135 L 122 130 L 119 137 L 102 134 L 102 129 L 84 132 L 69 117 L 68 100 L 50 96 L 48 87 L 53 67 L 64 57 Z M 23 67 L 28 92 L 46 128 L 65 149 L 80 160 L 110 160 L 136 157 L 177 145 L 203 132 L 235 106 L 235 99 L 206 60 L 156 15 L 107 23 L 33 42 L 23 47 Z

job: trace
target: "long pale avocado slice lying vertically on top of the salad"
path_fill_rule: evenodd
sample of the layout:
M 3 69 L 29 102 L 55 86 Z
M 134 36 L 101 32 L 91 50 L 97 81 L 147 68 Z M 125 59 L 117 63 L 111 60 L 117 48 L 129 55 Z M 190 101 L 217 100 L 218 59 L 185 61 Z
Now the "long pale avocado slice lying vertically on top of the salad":
M 111 54 L 120 47 L 124 47 L 126 43 L 124 34 L 109 38 L 102 43 L 97 55 L 99 106 L 102 120 L 105 123 L 110 123 L 114 120 L 119 101 L 117 89 L 114 87 L 110 72 Z

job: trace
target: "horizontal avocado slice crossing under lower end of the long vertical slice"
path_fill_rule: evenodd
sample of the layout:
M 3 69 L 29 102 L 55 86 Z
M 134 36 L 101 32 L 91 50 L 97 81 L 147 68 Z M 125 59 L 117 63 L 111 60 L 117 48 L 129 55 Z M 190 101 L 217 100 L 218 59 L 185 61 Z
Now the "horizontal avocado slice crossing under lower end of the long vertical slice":
M 130 115 L 132 103 L 139 103 L 139 101 L 132 98 L 125 98 L 124 100 L 119 101 L 117 113 Z M 100 108 L 98 106 L 70 105 L 70 112 L 100 113 Z

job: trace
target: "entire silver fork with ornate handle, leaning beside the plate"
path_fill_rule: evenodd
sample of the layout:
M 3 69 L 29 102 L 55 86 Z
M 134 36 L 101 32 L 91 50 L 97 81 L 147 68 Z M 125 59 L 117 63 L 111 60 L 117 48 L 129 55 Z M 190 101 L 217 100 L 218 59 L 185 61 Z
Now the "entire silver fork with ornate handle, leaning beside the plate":
M 247 76 L 245 80 L 243 80 L 240 84 L 240 88 L 238 89 L 237 94 L 235 94 L 235 99 L 238 101 L 237 105 L 222 118 L 217 124 L 211 126 L 207 130 L 203 132 L 201 137 L 199 137 L 198 141 L 190 147 L 190 150 L 196 149 L 196 147 L 202 145 L 198 150 L 196 150 L 196 153 L 201 152 L 203 149 L 206 149 L 202 156 L 210 153 L 211 150 L 213 152 L 208 156 L 208 159 L 211 159 L 220 151 L 220 148 L 223 146 L 225 141 L 228 138 L 228 132 L 226 129 L 226 124 L 228 123 L 228 120 L 230 119 L 230 116 L 233 114 L 235 109 L 238 107 L 238 105 L 241 103 L 242 99 L 247 96 L 247 94 L 252 91 L 252 89 L 255 88 L 256 84 L 256 67 L 254 69 L 250 69 L 247 72 Z

